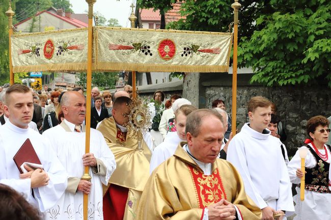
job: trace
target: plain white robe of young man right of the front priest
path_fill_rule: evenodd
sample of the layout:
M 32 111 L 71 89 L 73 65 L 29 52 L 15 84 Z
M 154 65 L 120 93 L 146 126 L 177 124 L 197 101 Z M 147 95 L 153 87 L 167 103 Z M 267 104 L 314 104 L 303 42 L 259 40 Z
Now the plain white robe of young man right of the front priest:
M 257 206 L 285 210 L 289 216 L 294 205 L 279 140 L 271 136 L 269 130 L 264 133 L 251 129 L 249 123 L 244 124 L 229 144 L 227 161 L 237 168 L 246 194 Z

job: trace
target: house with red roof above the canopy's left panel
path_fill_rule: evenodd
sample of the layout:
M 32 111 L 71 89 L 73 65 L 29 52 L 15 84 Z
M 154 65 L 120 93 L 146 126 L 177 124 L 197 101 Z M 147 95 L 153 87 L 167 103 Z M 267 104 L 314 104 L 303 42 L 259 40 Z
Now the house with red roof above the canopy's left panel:
M 14 27 L 15 32 L 19 33 L 44 32 L 48 28 L 61 30 L 87 27 L 88 23 L 82 21 L 84 18 L 83 14 L 73 16 L 71 13 L 64 13 L 62 9 L 51 7 L 14 24 Z

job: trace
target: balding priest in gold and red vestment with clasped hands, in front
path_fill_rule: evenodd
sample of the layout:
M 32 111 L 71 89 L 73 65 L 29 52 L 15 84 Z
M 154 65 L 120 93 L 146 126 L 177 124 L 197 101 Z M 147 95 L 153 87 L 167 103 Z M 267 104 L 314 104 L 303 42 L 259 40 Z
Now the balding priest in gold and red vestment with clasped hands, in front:
M 139 220 L 260 220 L 261 210 L 245 194 L 234 166 L 218 159 L 224 138 L 222 116 L 213 110 L 190 113 L 187 144 L 151 174 L 139 203 Z

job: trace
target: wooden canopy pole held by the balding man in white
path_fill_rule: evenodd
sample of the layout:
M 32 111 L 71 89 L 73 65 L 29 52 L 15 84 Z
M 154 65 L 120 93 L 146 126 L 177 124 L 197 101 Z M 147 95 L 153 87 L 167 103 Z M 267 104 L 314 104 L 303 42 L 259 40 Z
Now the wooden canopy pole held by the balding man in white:
M 93 40 L 93 4 L 96 0 L 86 0 L 89 4 L 89 26 L 88 26 L 88 67 L 87 67 L 87 80 L 86 80 L 86 136 L 85 136 L 85 153 L 90 152 L 90 132 L 91 132 L 91 90 L 92 90 L 92 40 Z M 83 180 L 90 181 L 89 166 L 84 168 L 84 175 L 81 177 Z M 88 200 L 89 197 L 84 193 L 83 198 L 83 212 L 84 220 L 88 220 Z

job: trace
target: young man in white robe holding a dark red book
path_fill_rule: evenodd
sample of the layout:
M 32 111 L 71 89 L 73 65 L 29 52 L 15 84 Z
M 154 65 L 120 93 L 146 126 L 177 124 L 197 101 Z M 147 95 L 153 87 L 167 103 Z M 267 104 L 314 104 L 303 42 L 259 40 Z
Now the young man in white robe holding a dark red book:
M 67 174 L 52 150 L 48 140 L 29 129 L 33 116 L 33 96 L 25 85 L 15 84 L 8 88 L 5 95 L 4 110 L 9 121 L 0 128 L 0 183 L 13 187 L 22 193 L 27 201 L 41 212 L 54 206 L 67 186 Z M 43 169 L 20 174 L 13 157 L 29 138 Z

